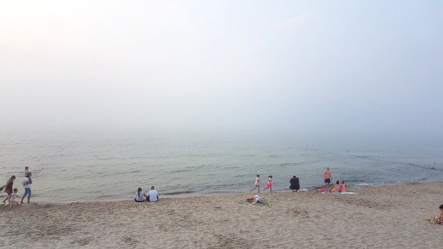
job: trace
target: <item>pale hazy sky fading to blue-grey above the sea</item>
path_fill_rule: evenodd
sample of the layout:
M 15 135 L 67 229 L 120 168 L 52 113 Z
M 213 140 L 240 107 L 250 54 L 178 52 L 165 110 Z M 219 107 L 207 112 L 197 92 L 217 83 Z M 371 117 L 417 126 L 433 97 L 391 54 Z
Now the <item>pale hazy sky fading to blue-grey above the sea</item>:
M 443 133 L 442 1 L 0 1 L 0 129 Z

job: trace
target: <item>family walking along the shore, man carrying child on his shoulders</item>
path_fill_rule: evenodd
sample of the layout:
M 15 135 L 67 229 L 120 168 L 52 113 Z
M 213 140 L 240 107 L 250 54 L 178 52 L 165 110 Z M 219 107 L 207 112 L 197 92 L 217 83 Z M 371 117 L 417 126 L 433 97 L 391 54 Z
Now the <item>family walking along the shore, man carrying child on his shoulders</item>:
M 24 172 L 24 180 L 22 182 L 22 186 L 25 188 L 25 193 L 23 194 L 22 197 L 18 196 L 18 188 L 14 188 L 12 189 L 12 186 L 14 185 L 14 180 L 16 179 L 15 176 L 11 176 L 7 181 L 6 184 L 3 187 L 0 187 L 0 190 L 2 190 L 4 188 L 4 191 L 8 196 L 6 196 L 6 198 L 2 201 L 2 203 L 4 205 L 9 205 L 9 209 L 11 208 L 15 208 L 20 206 L 20 204 L 23 204 L 23 199 L 25 199 L 26 196 L 28 196 L 28 203 L 30 202 L 31 199 L 31 184 L 32 184 L 32 173 L 29 172 L 29 167 L 25 167 L 25 172 Z M 18 201 L 18 198 L 21 198 L 20 201 Z M 6 201 L 8 202 L 6 204 Z

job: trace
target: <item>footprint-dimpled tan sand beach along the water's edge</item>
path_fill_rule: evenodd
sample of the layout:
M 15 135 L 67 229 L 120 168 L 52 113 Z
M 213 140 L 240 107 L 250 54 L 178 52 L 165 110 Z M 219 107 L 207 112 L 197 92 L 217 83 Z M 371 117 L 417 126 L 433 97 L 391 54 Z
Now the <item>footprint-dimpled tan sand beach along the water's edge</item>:
M 0 248 L 441 248 L 443 182 L 163 198 L 157 203 L 34 203 L 0 207 Z M 161 194 L 160 194 L 161 198 Z

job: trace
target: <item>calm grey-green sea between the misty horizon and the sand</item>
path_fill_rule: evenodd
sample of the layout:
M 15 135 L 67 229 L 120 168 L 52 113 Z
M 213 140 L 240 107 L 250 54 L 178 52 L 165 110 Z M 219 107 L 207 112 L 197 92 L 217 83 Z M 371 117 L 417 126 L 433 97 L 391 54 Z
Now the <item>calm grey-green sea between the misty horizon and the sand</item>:
M 15 175 L 22 195 L 29 166 L 37 202 L 127 198 L 152 185 L 163 197 L 248 193 L 255 174 L 260 187 L 272 175 L 273 190 L 288 191 L 293 175 L 321 186 L 326 166 L 348 186 L 440 181 L 442 155 L 439 139 L 401 137 L 0 133 L 0 182 Z

